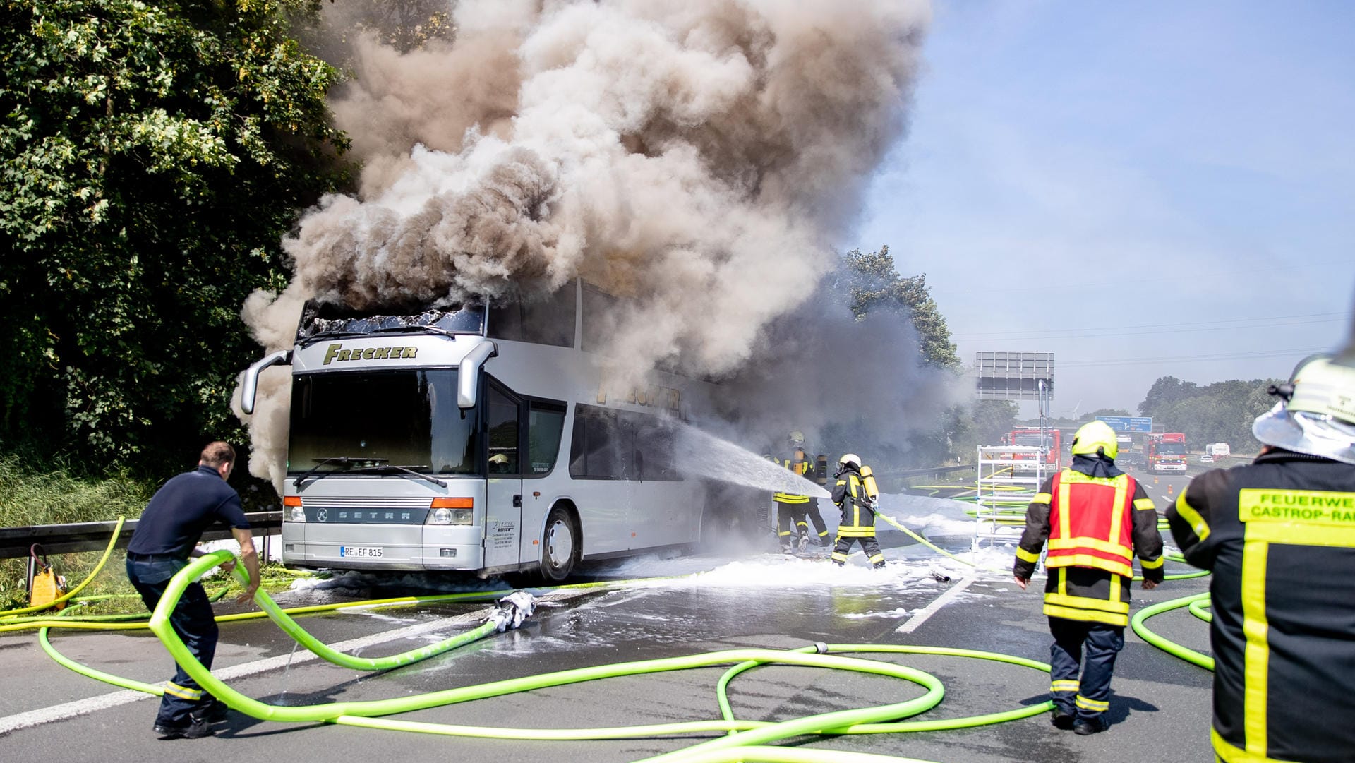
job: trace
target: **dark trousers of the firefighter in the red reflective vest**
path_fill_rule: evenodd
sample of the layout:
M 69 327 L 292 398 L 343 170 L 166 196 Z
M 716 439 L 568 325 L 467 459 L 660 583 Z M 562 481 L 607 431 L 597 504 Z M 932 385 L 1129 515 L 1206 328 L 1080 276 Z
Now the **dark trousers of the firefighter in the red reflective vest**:
M 1125 627 L 1051 617 L 1049 632 L 1054 637 L 1049 648 L 1054 707 L 1088 721 L 1100 717 L 1110 709 L 1110 678 L 1115 656 L 1125 648 Z

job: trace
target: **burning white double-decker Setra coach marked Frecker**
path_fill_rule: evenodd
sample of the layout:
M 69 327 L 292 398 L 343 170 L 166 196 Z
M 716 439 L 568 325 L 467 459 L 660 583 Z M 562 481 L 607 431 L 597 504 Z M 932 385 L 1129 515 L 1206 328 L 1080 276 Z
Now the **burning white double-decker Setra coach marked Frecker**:
M 291 365 L 285 564 L 537 571 L 701 538 L 709 482 L 675 462 L 673 419 L 713 386 L 656 373 L 607 389 L 612 298 L 575 281 L 549 301 L 358 316 L 308 305 Z M 713 508 L 714 511 L 714 508 Z

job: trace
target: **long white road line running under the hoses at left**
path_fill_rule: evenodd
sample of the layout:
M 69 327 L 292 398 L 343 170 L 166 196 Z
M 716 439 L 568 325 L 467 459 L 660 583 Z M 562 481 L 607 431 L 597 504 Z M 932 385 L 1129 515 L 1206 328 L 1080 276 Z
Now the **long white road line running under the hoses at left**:
M 558 594 L 549 594 L 541 596 L 538 600 L 564 600 L 572 599 L 581 595 L 581 591 L 561 591 Z M 488 617 L 492 610 L 477 610 L 474 613 L 466 613 L 457 617 L 436 619 L 432 622 L 424 622 L 419 625 L 411 625 L 409 627 L 401 627 L 397 630 L 388 630 L 383 633 L 374 633 L 371 636 L 363 636 L 360 638 L 351 638 L 348 641 L 340 641 L 337 644 L 331 644 L 332 649 L 339 652 L 354 652 L 355 649 L 364 649 L 367 646 L 374 646 L 377 644 L 386 644 L 389 641 L 398 641 L 401 638 L 413 638 L 416 636 L 423 636 L 425 633 L 434 633 L 443 630 L 449 626 L 476 623 L 480 625 Z M 301 652 L 298 655 L 279 655 L 276 657 L 266 657 L 263 660 L 255 660 L 252 663 L 243 663 L 238 665 L 232 665 L 229 668 L 221 668 L 211 671 L 213 675 L 221 680 L 233 680 L 237 678 L 245 678 L 251 675 L 257 675 L 262 672 L 276 671 L 286 668 L 289 664 L 295 665 L 301 663 L 310 663 L 318 660 L 312 652 Z M 106 710 L 108 707 L 117 707 L 119 705 L 129 705 L 141 699 L 154 699 L 154 694 L 146 694 L 144 691 L 134 691 L 130 688 L 123 688 L 121 691 L 111 691 L 108 694 L 100 694 L 98 697 L 88 697 L 85 699 L 76 699 L 73 702 L 62 702 L 61 705 L 51 705 L 49 707 L 39 707 L 37 710 L 28 710 L 27 713 L 16 713 L 14 716 L 5 716 L 0 718 L 0 736 L 9 732 L 26 729 L 30 726 L 37 726 L 41 724 L 50 724 L 51 721 L 64 721 L 66 718 L 73 718 L 76 716 L 88 716 L 96 710 Z

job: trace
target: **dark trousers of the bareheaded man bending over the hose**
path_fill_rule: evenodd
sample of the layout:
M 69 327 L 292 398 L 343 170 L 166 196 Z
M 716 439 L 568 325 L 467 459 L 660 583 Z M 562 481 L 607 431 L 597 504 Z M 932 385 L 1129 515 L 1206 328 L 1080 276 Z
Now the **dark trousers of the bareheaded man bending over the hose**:
M 154 611 L 160 598 L 164 596 L 169 579 L 176 572 L 188 566 L 188 560 L 156 556 L 154 558 L 127 557 L 127 580 L 141 594 L 141 600 L 146 609 Z M 183 638 L 188 652 L 198 659 L 207 669 L 211 669 L 211 659 L 217 653 L 217 621 L 211 614 L 211 602 L 207 592 L 199 583 L 191 583 L 184 588 L 183 596 L 173 611 L 169 613 L 169 625 L 173 632 Z M 178 667 L 178 665 L 176 665 Z M 165 693 L 160 698 L 160 713 L 156 716 L 156 725 L 186 728 L 192 722 L 192 716 L 199 710 L 206 710 L 213 697 L 198 686 L 182 667 L 173 678 L 165 683 Z

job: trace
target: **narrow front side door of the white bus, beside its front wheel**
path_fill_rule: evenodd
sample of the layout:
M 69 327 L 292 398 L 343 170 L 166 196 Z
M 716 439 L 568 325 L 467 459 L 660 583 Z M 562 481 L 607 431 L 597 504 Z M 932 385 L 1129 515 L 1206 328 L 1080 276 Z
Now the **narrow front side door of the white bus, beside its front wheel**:
M 497 384 L 485 389 L 485 566 L 515 565 L 522 560 L 522 405 Z

